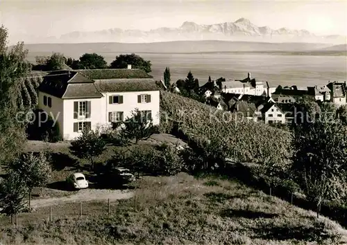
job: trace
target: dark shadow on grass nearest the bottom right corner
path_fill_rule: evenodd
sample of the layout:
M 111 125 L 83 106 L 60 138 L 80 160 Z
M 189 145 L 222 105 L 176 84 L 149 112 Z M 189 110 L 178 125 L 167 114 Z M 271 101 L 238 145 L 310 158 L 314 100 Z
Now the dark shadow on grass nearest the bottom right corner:
M 266 239 L 266 240 L 278 240 L 285 241 L 296 239 L 298 241 L 305 242 L 327 242 L 330 240 L 330 244 L 336 244 L 339 238 L 339 234 L 327 233 L 324 224 L 318 224 L 316 226 L 263 226 L 261 228 L 255 228 L 254 238 Z

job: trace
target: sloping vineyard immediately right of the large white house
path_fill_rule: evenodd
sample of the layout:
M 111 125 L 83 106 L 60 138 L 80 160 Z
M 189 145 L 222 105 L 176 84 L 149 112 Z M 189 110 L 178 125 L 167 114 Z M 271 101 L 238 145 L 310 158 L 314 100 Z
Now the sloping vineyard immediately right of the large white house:
M 162 91 L 161 123 L 191 138 L 207 138 L 226 145 L 230 158 L 236 162 L 286 164 L 291 157 L 292 135 L 264 123 L 255 123 L 241 114 L 230 114 L 196 100 Z

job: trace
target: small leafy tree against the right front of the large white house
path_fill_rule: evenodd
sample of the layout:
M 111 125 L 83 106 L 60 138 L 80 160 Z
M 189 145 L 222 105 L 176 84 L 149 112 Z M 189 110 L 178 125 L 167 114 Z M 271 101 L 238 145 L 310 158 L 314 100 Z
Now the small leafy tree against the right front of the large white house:
M 132 112 L 132 117 L 124 121 L 124 127 L 121 129 L 121 137 L 128 140 L 135 139 L 135 144 L 139 140 L 146 140 L 154 134 L 153 119 L 151 114 L 144 114 L 139 109 Z

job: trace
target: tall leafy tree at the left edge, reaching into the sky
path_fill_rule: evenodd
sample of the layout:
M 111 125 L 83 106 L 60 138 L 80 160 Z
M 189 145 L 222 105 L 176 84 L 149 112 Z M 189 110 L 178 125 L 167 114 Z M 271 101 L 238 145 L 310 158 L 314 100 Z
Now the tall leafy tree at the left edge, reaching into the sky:
M 22 84 L 31 69 L 23 43 L 7 48 L 7 29 L 0 27 L 0 165 L 13 161 L 26 142 L 23 118 L 28 108 L 19 107 Z

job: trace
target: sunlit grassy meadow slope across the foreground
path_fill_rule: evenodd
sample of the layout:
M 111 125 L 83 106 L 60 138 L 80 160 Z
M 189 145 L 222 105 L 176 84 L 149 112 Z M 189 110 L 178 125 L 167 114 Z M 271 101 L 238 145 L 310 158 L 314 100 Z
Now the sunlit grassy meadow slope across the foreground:
M 235 181 L 145 177 L 112 214 L 1 229 L 5 244 L 338 244 L 347 231 Z M 105 203 L 100 203 L 105 206 Z M 41 212 L 37 210 L 37 212 Z M 31 214 L 35 215 L 35 213 Z M 312 243 L 313 242 L 313 243 Z

